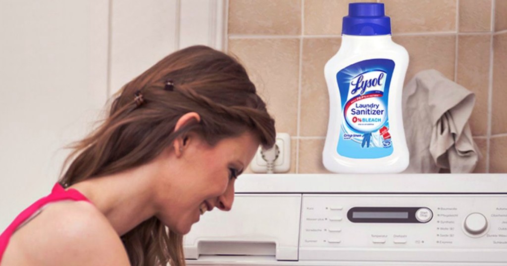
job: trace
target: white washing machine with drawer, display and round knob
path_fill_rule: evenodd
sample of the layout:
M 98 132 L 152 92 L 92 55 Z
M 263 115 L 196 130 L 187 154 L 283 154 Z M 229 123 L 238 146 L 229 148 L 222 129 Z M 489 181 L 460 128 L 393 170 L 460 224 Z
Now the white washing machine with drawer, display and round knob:
M 507 266 L 507 174 L 245 174 L 189 265 Z

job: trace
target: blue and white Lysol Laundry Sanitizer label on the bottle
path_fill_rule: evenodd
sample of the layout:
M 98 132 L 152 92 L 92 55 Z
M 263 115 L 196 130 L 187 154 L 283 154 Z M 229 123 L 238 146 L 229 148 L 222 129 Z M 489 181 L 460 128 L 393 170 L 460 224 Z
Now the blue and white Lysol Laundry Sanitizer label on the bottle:
M 387 107 L 393 70 L 392 60 L 370 59 L 336 74 L 342 107 L 339 155 L 376 159 L 392 154 Z

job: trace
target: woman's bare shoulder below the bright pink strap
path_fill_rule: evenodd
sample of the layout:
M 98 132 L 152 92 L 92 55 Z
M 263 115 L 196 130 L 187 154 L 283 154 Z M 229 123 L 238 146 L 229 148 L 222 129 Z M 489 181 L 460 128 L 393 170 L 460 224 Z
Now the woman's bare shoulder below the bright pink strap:
M 102 213 L 84 201 L 49 205 L 13 235 L 3 262 L 10 261 L 10 249 L 27 264 L 129 265 L 116 231 Z

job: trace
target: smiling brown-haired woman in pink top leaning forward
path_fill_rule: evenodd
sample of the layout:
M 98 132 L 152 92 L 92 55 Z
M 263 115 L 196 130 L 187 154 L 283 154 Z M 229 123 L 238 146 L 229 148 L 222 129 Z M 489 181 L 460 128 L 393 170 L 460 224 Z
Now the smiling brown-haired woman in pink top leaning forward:
M 0 237 L 0 265 L 184 265 L 183 235 L 206 211 L 231 209 L 236 177 L 274 141 L 236 60 L 175 52 L 126 84 L 74 146 L 51 195 Z

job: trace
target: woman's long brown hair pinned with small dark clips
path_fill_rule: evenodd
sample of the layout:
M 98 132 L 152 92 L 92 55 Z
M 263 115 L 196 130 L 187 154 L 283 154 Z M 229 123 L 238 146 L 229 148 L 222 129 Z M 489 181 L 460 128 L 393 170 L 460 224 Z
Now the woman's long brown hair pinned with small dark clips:
M 142 96 L 142 100 L 135 96 Z M 118 173 L 153 160 L 173 140 L 196 132 L 210 145 L 245 131 L 275 142 L 274 120 L 237 60 L 205 46 L 172 53 L 115 95 L 107 119 L 75 143 L 60 178 L 63 186 Z M 201 120 L 176 132 L 187 112 Z M 185 265 L 183 236 L 152 217 L 122 236 L 132 265 Z

